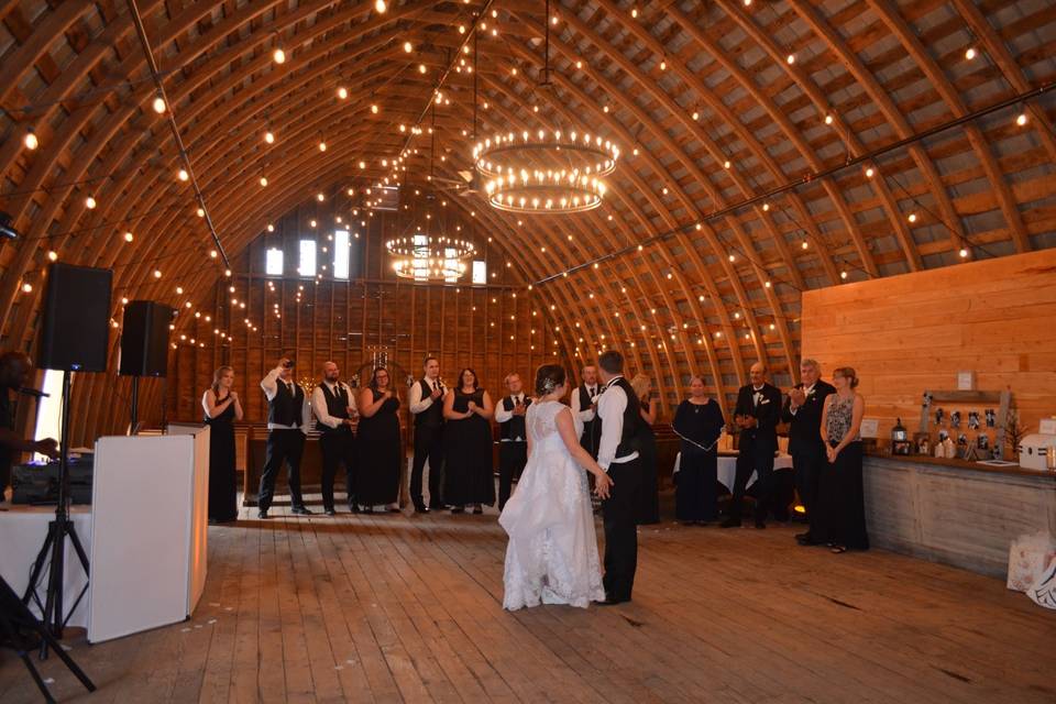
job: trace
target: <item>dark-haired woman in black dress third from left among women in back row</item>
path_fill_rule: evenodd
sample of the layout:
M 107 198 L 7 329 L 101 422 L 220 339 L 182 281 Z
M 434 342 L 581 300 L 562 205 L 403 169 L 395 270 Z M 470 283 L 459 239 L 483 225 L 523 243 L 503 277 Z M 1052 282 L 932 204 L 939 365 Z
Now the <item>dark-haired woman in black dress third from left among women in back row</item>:
M 480 388 L 476 372 L 462 370 L 453 394 L 443 397 L 444 501 L 452 514 L 472 508 L 483 514 L 482 504 L 495 504 L 495 472 L 492 468 L 492 398 Z

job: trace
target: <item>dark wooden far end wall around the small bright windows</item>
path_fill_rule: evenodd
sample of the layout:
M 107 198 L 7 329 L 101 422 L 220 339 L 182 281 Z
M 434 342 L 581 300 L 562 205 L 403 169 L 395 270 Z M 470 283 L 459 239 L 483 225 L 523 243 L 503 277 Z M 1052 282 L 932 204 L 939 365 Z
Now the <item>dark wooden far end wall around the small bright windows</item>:
M 198 317 L 182 316 L 168 380 L 169 418 L 201 415 L 201 394 L 221 364 L 235 369 L 248 419 L 263 420 L 266 406 L 258 382 L 285 354 L 296 358 L 298 380 L 318 380 L 321 364 L 332 360 L 345 380 L 360 373 L 365 383 L 374 354 L 384 352 L 402 389 L 408 375 L 421 374 L 422 359 L 433 354 L 449 384 L 460 369 L 471 366 L 494 399 L 503 394 L 507 373 L 529 380 L 536 365 L 558 359 L 554 351 L 562 354 L 543 322 L 544 311 L 534 305 L 487 234 L 474 231 L 474 223 L 443 216 L 446 232 L 477 243 L 488 283 L 471 285 L 466 273 L 459 285 L 425 285 L 397 278 L 384 251 L 386 238 L 406 231 L 406 211 L 375 212 L 369 219 L 353 211 L 348 204 L 331 208 L 315 201 L 295 209 L 248 248 L 238 273 L 202 297 Z M 336 223 L 338 212 L 345 213 L 341 226 Z M 346 227 L 354 235 L 351 280 L 334 280 L 332 267 L 322 268 L 331 262 L 329 235 L 336 227 Z M 317 242 L 318 279 L 296 274 L 302 239 Z M 270 248 L 283 250 L 284 276 L 265 275 Z

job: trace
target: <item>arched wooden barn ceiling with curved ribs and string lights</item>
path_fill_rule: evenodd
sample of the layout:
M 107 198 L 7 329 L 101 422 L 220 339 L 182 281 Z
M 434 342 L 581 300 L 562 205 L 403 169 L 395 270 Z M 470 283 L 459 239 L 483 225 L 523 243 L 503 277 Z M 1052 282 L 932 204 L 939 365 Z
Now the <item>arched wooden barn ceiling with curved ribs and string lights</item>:
M 1056 243 L 1047 0 L 554 0 L 550 87 L 542 1 L 375 4 L 139 2 L 230 257 L 306 195 L 352 188 L 351 208 L 404 147 L 406 184 L 432 186 L 430 160 L 460 179 L 474 112 L 482 133 L 591 130 L 624 150 L 602 208 L 451 201 L 569 363 L 615 344 L 670 403 L 689 374 L 732 393 L 757 359 L 794 377 L 804 289 Z M 113 267 L 116 304 L 195 305 L 222 255 L 176 178 L 131 3 L 0 0 L 0 210 L 22 232 L 0 245 L 4 346 L 32 345 L 50 252 Z

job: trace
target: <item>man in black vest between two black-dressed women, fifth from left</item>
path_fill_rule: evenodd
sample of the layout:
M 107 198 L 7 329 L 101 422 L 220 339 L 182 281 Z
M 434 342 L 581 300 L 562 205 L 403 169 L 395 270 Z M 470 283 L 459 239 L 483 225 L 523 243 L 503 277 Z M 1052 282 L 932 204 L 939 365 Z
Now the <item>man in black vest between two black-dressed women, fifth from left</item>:
M 427 356 L 425 375 L 410 387 L 408 404 L 415 417 L 415 460 L 410 469 L 410 499 L 416 514 L 443 508 L 443 396 L 447 388 L 440 381 L 440 361 Z M 429 461 L 429 506 L 421 496 L 421 476 Z

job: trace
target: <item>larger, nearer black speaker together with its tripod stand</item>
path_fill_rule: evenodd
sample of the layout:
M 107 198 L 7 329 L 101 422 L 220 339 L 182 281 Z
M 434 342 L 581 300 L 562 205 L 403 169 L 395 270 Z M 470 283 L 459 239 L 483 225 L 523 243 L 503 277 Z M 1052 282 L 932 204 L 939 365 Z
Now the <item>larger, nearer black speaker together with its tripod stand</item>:
M 41 609 L 41 622 L 54 637 L 63 637 L 63 628 L 80 600 L 88 591 L 77 595 L 69 612 L 65 612 L 63 571 L 66 565 L 66 539 L 69 539 L 85 576 L 89 574 L 88 553 L 77 537 L 69 520 L 69 389 L 74 372 L 105 372 L 107 348 L 110 339 L 110 286 L 113 272 L 110 270 L 74 266 L 55 263 L 47 271 L 47 290 L 44 296 L 40 366 L 62 371 L 63 409 L 58 458 L 58 503 L 55 520 L 47 525 L 47 536 L 33 562 L 30 583 L 22 603 L 32 601 Z M 44 601 L 37 590 L 46 572 Z M 41 644 L 41 658 L 47 657 L 48 639 Z

